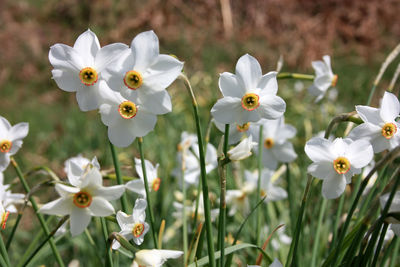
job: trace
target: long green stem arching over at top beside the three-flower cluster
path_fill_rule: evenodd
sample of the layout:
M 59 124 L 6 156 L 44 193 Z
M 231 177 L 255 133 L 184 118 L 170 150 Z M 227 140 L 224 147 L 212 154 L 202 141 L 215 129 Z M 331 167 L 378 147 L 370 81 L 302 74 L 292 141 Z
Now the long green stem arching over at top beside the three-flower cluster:
M 192 86 L 190 85 L 189 79 L 181 73 L 179 76 L 180 79 L 183 80 L 186 89 L 189 92 L 190 97 L 192 98 L 193 112 L 196 121 L 196 132 L 197 139 L 199 145 L 199 155 L 200 155 L 200 176 L 201 183 L 203 187 L 203 203 L 204 203 L 204 217 L 206 224 L 206 232 L 207 232 L 207 249 L 208 249 L 208 257 L 209 263 L 211 267 L 215 266 L 215 255 L 214 255 L 214 242 L 213 242 L 213 234 L 212 234 L 212 225 L 211 225 L 211 212 L 210 212 L 210 200 L 208 197 L 208 184 L 207 184 L 207 175 L 206 175 L 206 163 L 204 156 L 204 145 L 203 145 L 203 137 L 201 133 L 200 119 L 198 113 L 197 101 L 193 93 Z

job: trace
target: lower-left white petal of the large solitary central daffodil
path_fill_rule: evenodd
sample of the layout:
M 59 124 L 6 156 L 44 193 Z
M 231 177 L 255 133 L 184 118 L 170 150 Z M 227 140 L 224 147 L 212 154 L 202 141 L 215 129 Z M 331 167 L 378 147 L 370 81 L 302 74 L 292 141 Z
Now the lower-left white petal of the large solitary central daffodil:
M 230 124 L 234 123 L 241 116 L 241 109 L 241 100 L 239 98 L 224 97 L 215 103 L 211 109 L 211 114 L 216 121 Z

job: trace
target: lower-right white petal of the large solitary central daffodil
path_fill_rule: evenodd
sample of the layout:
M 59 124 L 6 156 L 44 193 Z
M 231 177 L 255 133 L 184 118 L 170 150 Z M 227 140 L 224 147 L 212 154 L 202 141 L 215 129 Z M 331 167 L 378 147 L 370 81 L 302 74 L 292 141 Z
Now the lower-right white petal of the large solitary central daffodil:
M 260 97 L 260 106 L 256 109 L 264 119 L 275 120 L 285 113 L 285 101 L 276 95 L 264 95 Z

